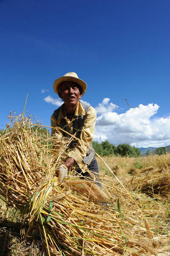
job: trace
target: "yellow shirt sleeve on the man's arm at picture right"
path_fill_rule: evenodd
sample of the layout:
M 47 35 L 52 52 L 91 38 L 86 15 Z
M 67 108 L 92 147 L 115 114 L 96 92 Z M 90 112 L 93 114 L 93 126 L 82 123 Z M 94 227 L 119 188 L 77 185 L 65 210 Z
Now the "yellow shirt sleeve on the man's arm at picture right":
M 86 153 L 89 150 L 89 145 L 92 143 L 95 132 L 95 120 L 96 111 L 94 108 L 89 107 L 81 130 L 80 140 L 78 140 L 77 145 L 68 153 L 68 156 L 72 157 L 77 164 L 82 163 L 82 160 L 86 157 Z

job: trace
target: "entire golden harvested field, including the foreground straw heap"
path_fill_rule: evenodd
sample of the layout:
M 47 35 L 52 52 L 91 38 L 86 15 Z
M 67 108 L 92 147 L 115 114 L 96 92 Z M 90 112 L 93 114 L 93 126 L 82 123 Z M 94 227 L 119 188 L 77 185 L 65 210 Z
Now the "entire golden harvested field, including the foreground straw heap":
M 59 184 L 55 168 L 63 163 L 73 138 L 54 138 L 55 150 L 50 139 L 23 115 L 0 136 L 0 195 L 8 209 L 17 210 L 17 217 L 12 214 L 23 224 L 20 241 L 26 244 L 26 237 L 36 234 L 41 242 L 37 255 L 40 250 L 51 256 L 169 255 L 170 181 L 163 178 L 170 166 L 168 155 L 157 167 L 156 163 L 150 167 L 151 158 L 150 166 L 142 162 L 143 169 L 137 169 L 132 158 L 129 166 L 126 158 L 107 158 L 110 169 L 98 159 L 101 190 L 75 177 L 74 167 Z

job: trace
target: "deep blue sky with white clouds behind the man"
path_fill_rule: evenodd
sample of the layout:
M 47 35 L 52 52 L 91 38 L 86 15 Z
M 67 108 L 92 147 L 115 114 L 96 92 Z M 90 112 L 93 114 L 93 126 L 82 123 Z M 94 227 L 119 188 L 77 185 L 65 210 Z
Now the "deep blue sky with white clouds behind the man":
M 50 125 L 53 82 L 76 72 L 95 140 L 170 145 L 169 13 L 169 0 L 0 0 L 0 129 L 27 93 L 26 113 Z

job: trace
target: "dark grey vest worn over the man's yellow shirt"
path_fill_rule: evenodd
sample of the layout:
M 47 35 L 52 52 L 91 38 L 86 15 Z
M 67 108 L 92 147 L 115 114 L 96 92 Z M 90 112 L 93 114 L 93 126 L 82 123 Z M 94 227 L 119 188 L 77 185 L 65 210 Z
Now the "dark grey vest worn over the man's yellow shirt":
M 89 109 L 89 105 L 86 104 L 85 102 L 82 102 L 81 100 L 80 100 L 80 103 L 81 103 L 81 106 L 83 107 L 85 113 L 87 114 L 87 111 Z M 60 113 L 61 108 L 63 107 L 63 105 L 61 105 L 61 107 L 56 109 L 53 113 L 56 120 L 58 119 L 59 113 Z M 61 119 L 61 122 L 58 126 L 61 127 L 64 131 L 67 131 L 70 134 L 75 134 L 75 137 L 80 138 L 80 134 L 81 134 L 82 127 L 84 125 L 85 118 L 86 118 L 86 115 L 84 115 L 84 116 L 74 116 L 73 117 L 74 120 L 72 122 L 72 131 L 70 131 L 69 126 L 66 122 L 66 119 Z M 70 137 L 68 134 L 66 134 L 63 131 L 61 131 L 61 133 L 63 134 L 64 137 Z M 77 140 L 72 140 L 72 142 L 69 145 L 70 148 L 74 148 L 76 143 L 77 143 Z M 92 143 L 91 143 L 90 147 L 92 148 Z M 86 153 L 86 157 L 83 159 L 83 161 L 84 161 L 84 163 L 89 164 L 94 157 L 95 157 L 95 152 L 92 149 L 89 148 L 89 150 Z

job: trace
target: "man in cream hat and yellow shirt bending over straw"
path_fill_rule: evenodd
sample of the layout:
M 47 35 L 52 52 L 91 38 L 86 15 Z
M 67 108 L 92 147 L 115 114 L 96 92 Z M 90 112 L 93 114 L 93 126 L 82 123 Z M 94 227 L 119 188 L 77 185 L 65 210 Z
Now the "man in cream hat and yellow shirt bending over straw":
M 52 135 L 57 137 L 70 137 L 66 132 L 75 135 L 80 140 L 72 140 L 70 151 L 63 165 L 60 165 L 56 171 L 58 180 L 62 181 L 67 175 L 67 170 L 73 164 L 81 177 L 93 180 L 89 172 L 82 171 L 86 164 L 87 168 L 98 177 L 98 164 L 95 159 L 95 153 L 89 147 L 92 147 L 92 139 L 95 131 L 95 109 L 88 104 L 80 101 L 86 92 L 86 83 L 78 78 L 74 72 L 66 73 L 64 76 L 56 79 L 54 82 L 54 91 L 63 99 L 64 104 L 54 111 L 51 116 Z M 55 127 L 60 127 L 56 129 Z M 95 179 L 97 184 L 98 178 Z

